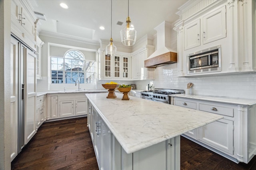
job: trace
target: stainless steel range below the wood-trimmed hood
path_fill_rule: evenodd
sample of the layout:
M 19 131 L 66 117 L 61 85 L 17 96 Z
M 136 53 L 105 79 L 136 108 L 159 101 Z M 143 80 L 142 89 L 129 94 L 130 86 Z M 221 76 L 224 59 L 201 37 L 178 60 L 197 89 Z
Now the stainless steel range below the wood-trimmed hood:
M 184 93 L 184 90 L 155 88 L 154 91 L 140 92 L 140 98 L 146 99 L 146 100 L 152 100 L 155 102 L 170 104 L 170 99 L 168 95 L 183 94 L 183 93 Z

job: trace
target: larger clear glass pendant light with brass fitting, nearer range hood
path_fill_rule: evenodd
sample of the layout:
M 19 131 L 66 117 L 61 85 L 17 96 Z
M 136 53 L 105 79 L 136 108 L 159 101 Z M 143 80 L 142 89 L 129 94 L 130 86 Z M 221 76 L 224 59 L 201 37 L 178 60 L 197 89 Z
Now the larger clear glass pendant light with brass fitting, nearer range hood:
M 131 25 L 131 19 L 129 17 L 129 0 L 128 0 L 128 17 L 126 18 L 126 27 L 121 29 L 121 41 L 123 45 L 131 46 L 136 42 L 137 31 Z

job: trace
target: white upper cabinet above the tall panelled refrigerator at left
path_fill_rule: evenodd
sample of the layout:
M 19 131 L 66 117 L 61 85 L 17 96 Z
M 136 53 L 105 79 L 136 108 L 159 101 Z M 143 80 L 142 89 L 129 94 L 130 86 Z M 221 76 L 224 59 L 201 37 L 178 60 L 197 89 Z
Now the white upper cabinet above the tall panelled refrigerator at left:
M 26 1 L 12 0 L 11 5 L 11 32 L 36 51 L 35 16 Z

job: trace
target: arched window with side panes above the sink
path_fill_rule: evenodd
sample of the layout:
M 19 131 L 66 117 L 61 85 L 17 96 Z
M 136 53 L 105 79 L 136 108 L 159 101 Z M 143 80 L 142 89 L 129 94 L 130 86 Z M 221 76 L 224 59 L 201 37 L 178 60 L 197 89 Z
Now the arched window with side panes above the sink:
M 52 83 L 95 83 L 95 61 L 86 61 L 78 50 L 69 50 L 62 57 L 51 57 Z

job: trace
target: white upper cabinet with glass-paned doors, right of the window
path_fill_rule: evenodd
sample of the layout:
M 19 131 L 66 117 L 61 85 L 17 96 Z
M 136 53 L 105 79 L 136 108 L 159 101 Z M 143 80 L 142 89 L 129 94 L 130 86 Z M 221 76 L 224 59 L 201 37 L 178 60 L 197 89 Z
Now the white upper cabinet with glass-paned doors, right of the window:
M 102 80 L 130 79 L 130 54 L 118 52 L 115 56 L 106 55 L 103 49 L 100 54 L 100 78 Z

